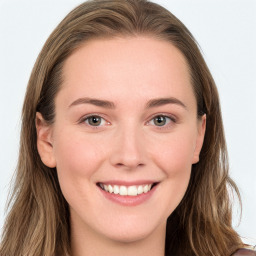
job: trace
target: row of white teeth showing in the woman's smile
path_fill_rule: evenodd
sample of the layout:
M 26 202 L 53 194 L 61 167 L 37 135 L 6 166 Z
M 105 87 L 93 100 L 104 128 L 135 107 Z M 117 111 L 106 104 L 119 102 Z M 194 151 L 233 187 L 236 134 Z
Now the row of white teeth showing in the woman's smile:
M 118 186 L 118 185 L 106 185 L 106 184 L 99 184 L 100 187 L 109 192 L 114 194 L 119 194 L 121 196 L 137 196 L 142 193 L 147 193 L 151 190 L 153 184 L 146 184 L 146 185 L 133 185 L 133 186 Z

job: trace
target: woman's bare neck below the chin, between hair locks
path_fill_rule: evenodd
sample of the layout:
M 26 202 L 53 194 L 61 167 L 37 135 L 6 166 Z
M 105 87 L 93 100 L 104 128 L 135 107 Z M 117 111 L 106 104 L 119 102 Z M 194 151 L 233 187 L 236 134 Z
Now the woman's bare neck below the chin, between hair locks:
M 136 228 L 136 227 L 135 227 Z M 81 225 L 71 225 L 72 256 L 164 256 L 166 223 L 152 234 L 136 241 L 123 242 L 95 234 Z

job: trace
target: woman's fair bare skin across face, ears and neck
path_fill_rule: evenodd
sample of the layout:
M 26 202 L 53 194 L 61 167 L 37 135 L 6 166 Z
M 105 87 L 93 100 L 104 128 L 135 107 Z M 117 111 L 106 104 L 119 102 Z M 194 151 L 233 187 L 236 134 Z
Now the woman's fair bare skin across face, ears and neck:
M 184 56 L 151 37 L 95 39 L 66 60 L 63 78 L 55 123 L 37 113 L 36 126 L 41 159 L 57 168 L 70 205 L 72 256 L 163 256 L 166 220 L 185 194 L 205 133 Z M 70 106 L 83 97 L 115 108 Z M 146 107 L 166 97 L 184 106 Z M 101 124 L 90 126 L 88 114 L 103 117 Z M 170 117 L 163 126 L 154 122 L 159 115 Z M 106 199 L 96 185 L 145 179 L 159 184 L 137 206 Z

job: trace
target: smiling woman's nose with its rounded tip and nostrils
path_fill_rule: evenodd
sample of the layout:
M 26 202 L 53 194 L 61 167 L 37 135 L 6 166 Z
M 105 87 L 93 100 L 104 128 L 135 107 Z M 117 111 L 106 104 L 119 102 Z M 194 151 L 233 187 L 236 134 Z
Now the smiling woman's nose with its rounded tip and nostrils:
M 143 135 L 135 128 L 120 129 L 113 139 L 111 164 L 128 170 L 144 166 L 144 144 Z

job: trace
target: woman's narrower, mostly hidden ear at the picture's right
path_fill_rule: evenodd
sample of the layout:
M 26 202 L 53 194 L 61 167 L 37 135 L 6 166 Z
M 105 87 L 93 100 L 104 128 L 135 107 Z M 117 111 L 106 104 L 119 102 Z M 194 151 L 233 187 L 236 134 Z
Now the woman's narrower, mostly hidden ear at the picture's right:
M 192 164 L 199 162 L 199 155 L 204 143 L 204 135 L 206 129 L 206 114 L 204 114 L 201 119 L 198 121 L 198 134 L 196 139 L 196 146 L 193 155 Z

